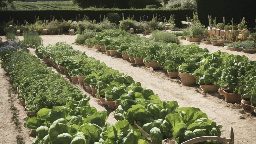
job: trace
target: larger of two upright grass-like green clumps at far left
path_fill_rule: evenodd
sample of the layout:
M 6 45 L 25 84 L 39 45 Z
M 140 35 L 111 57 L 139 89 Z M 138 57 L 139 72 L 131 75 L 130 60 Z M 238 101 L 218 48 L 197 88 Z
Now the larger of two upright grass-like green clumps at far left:
M 43 40 L 37 32 L 24 32 L 24 43 L 33 48 L 43 45 Z

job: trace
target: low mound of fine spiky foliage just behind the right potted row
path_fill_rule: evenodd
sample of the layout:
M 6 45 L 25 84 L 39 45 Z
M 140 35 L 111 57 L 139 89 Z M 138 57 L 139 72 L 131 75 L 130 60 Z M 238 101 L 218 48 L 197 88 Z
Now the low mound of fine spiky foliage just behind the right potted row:
M 151 39 L 155 40 L 155 42 L 159 42 L 161 40 L 165 43 L 179 44 L 179 38 L 176 35 L 159 30 L 152 32 Z

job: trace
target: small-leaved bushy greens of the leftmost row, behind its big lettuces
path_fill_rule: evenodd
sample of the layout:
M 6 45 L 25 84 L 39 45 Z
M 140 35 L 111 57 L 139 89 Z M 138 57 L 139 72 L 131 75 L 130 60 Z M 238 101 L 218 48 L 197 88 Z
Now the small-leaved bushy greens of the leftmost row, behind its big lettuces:
M 65 105 L 67 99 L 86 97 L 78 87 L 72 86 L 37 57 L 23 50 L 4 50 L 0 57 L 3 61 L 1 67 L 9 73 L 13 89 L 19 87 L 20 100 L 26 101 L 26 108 L 30 111 Z

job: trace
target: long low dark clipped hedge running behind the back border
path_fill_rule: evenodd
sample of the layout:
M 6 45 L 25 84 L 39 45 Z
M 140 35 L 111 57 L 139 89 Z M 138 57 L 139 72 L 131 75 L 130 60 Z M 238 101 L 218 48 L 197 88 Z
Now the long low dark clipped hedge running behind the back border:
M 80 18 L 83 17 L 83 15 L 87 15 L 90 19 L 96 19 L 97 22 L 100 19 L 101 15 L 101 20 L 103 20 L 104 15 L 107 15 L 108 13 L 118 13 L 121 18 L 122 18 L 122 13 L 124 13 L 125 19 L 130 13 L 130 16 L 134 15 L 134 19 L 139 21 L 140 17 L 144 16 L 144 20 L 146 20 L 148 16 L 148 20 L 152 20 L 153 14 L 157 14 L 158 18 L 166 17 L 167 21 L 170 18 L 170 15 L 174 14 L 175 15 L 175 21 L 176 21 L 176 26 L 181 27 L 181 21 L 186 20 L 186 15 L 189 17 L 193 17 L 193 11 L 191 9 L 100 9 L 100 8 L 95 8 L 95 9 L 85 9 L 85 10 L 52 10 L 52 11 L 45 11 L 45 10 L 38 10 L 38 11 L 0 11 L 1 14 L 1 21 L 8 22 L 9 21 L 9 16 L 11 16 L 11 19 L 14 18 L 15 23 L 18 22 L 23 22 L 26 20 L 29 23 L 33 23 L 35 20 L 35 16 L 40 16 L 41 19 L 50 19 L 50 16 L 55 15 L 56 19 L 60 19 L 60 15 L 66 19 L 76 19 L 76 15 L 80 14 Z

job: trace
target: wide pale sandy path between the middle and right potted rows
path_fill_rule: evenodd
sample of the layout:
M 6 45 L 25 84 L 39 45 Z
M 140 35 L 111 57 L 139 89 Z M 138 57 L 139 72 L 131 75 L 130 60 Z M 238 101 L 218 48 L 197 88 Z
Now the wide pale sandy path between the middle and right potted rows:
M 3 38 L 3 37 L 2 37 Z M 86 51 L 88 56 L 93 56 L 104 61 L 109 67 L 117 69 L 120 72 L 127 73 L 133 77 L 135 81 L 141 82 L 143 87 L 151 88 L 155 94 L 158 94 L 161 100 L 176 100 L 180 107 L 197 107 L 207 114 L 208 118 L 217 122 L 217 125 L 223 126 L 222 137 L 230 137 L 230 129 L 234 128 L 235 143 L 238 144 L 252 144 L 255 143 L 254 133 L 256 131 L 256 114 L 251 111 L 244 111 L 239 105 L 233 105 L 225 102 L 224 96 L 219 95 L 218 92 L 202 92 L 199 85 L 184 86 L 180 78 L 172 79 L 161 70 L 155 70 L 150 73 L 149 68 L 145 66 L 133 66 L 129 61 L 122 58 L 107 56 L 105 53 L 98 52 L 95 48 L 88 48 L 86 46 L 79 46 L 73 44 L 76 36 L 59 35 L 59 36 L 42 36 L 44 46 L 48 44 L 55 44 L 57 42 L 65 42 L 73 46 L 73 49 Z M 19 37 L 23 39 L 23 37 Z M 184 44 L 190 42 L 181 40 Z M 215 52 L 218 49 L 232 54 L 246 55 L 251 60 L 256 60 L 256 54 L 245 54 L 243 52 L 234 52 L 225 50 L 222 47 L 213 47 L 211 45 L 199 45 L 202 48 L 208 48 L 210 52 Z M 83 91 L 86 93 L 85 91 Z M 86 93 L 87 94 L 87 93 Z M 92 106 L 99 109 L 98 99 L 92 98 L 90 101 Z M 98 106 L 96 106 L 98 105 Z M 107 109 L 107 108 L 104 108 Z M 112 113 L 111 113 L 112 114 Z M 110 118 L 112 117 L 110 114 Z M 113 114 L 112 114 L 113 115 Z M 240 119 L 243 116 L 245 119 Z

